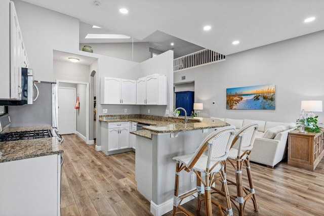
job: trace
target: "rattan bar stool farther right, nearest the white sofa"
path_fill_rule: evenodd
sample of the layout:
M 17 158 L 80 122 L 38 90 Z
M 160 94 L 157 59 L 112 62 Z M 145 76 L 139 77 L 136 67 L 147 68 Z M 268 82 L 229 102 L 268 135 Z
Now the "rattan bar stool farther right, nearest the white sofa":
M 228 180 L 229 182 L 228 184 L 236 185 L 236 197 L 235 196 L 230 196 L 230 197 L 233 201 L 235 201 L 233 202 L 233 204 L 237 208 L 240 216 L 244 215 L 245 203 L 246 200 L 249 199 L 250 197 L 252 198 L 253 201 L 254 210 L 258 211 L 257 200 L 256 200 L 251 167 L 250 167 L 250 159 L 249 159 L 249 155 L 253 148 L 253 143 L 257 131 L 258 131 L 257 122 L 252 122 L 240 128 L 239 131 L 235 133 L 233 143 L 231 149 L 229 150 L 229 154 L 227 158 L 227 161 L 229 161 L 230 164 L 235 169 L 235 176 L 236 176 L 236 182 Z M 236 160 L 236 164 L 235 161 L 233 160 Z M 246 164 L 250 188 L 244 187 L 242 185 L 243 161 Z M 225 167 L 225 171 L 226 171 L 226 167 Z M 245 192 L 245 195 L 243 194 L 243 192 Z

